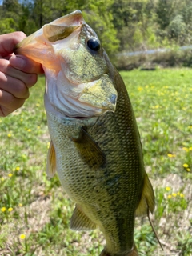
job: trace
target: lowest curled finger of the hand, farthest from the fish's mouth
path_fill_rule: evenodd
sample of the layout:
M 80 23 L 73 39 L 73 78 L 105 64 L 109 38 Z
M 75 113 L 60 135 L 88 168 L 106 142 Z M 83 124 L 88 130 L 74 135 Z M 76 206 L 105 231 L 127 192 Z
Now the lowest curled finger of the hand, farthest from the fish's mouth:
M 0 116 L 6 117 L 21 107 L 24 102 L 25 99 L 15 98 L 14 95 L 6 92 L 6 90 L 0 90 Z

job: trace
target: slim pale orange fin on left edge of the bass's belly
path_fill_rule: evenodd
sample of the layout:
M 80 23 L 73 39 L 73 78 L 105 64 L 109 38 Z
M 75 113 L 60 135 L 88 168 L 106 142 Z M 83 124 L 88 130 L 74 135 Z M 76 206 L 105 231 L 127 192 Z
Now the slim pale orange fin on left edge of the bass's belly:
M 56 172 L 56 155 L 55 155 L 53 142 L 50 141 L 50 147 L 47 153 L 46 174 L 52 178 L 54 177 L 55 172 Z

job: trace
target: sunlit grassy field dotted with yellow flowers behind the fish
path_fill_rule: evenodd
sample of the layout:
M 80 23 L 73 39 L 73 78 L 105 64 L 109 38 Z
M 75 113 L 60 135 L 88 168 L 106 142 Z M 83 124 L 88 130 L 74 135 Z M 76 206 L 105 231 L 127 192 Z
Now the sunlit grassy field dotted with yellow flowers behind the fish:
M 138 120 L 146 171 L 154 186 L 151 217 L 136 219 L 139 255 L 192 255 L 192 70 L 122 72 Z M 57 175 L 46 177 L 49 134 L 44 78 L 22 109 L 0 119 L 0 254 L 99 255 L 98 230 L 69 229 L 74 204 Z M 81 186 L 81 185 L 79 185 Z

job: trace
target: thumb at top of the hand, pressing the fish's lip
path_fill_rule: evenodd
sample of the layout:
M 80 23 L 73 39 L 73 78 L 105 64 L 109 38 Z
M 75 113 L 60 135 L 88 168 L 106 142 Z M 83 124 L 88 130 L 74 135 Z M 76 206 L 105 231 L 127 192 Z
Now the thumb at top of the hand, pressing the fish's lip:
M 0 55 L 6 57 L 13 53 L 14 46 L 26 38 L 26 34 L 17 31 L 10 34 L 2 34 L 0 36 Z

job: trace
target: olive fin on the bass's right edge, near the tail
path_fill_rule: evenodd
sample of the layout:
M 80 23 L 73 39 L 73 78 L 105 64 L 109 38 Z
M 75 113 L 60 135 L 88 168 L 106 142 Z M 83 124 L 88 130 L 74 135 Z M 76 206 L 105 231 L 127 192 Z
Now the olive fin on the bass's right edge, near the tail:
M 138 208 L 135 211 L 135 215 L 138 217 L 146 216 L 148 209 L 150 210 L 151 213 L 153 213 L 154 206 L 155 206 L 154 190 L 146 174 L 144 178 L 143 189 L 142 189 L 142 197 L 138 204 Z

